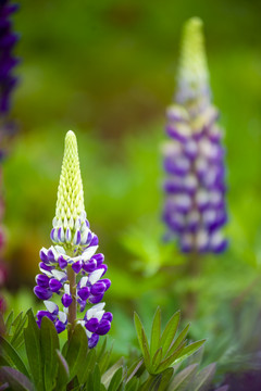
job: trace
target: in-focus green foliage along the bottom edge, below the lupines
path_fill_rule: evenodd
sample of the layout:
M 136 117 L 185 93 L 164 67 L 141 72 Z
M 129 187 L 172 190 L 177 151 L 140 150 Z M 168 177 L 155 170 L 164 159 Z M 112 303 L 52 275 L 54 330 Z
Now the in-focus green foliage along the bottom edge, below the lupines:
M 13 320 L 13 316 L 9 315 L 3 323 L 7 338 L 0 338 L 0 381 L 13 391 L 207 391 L 215 365 L 198 370 L 202 356 L 199 348 L 203 341 L 186 345 L 188 327 L 175 338 L 179 317 L 179 312 L 174 314 L 161 335 L 161 312 L 158 308 L 149 345 L 142 324 L 135 314 L 142 358 L 134 362 L 129 356 L 111 363 L 112 348 L 108 349 L 107 339 L 99 349 L 89 350 L 82 325 L 75 327 L 61 352 L 52 321 L 44 317 L 39 329 L 32 310 L 27 312 L 27 321 L 23 321 L 22 327 L 26 352 L 25 360 L 22 360 L 14 348 L 16 339 L 13 344 L 9 342 L 8 338 L 12 341 L 12 336 L 7 331 L 13 323 L 17 328 L 24 316 L 18 315 Z M 198 353 L 191 356 L 196 351 Z M 174 367 L 175 373 L 179 368 L 178 362 L 188 356 L 197 364 L 188 363 L 177 375 L 174 374 Z

